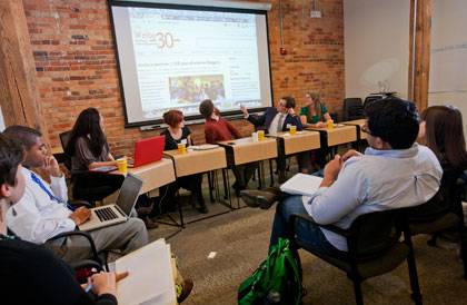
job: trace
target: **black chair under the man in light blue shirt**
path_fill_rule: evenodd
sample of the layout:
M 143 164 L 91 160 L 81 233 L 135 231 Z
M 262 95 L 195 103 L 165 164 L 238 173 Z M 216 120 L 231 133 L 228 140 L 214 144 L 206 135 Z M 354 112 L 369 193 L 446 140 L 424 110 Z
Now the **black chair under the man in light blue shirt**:
M 332 266 L 347 273 L 354 282 L 355 299 L 364 304 L 361 282 L 366 278 L 388 273 L 399 266 L 404 260 L 408 263 L 411 286 L 411 298 L 421 304 L 421 294 L 418 286 L 417 268 L 414 258 L 413 244 L 408 232 L 407 219 L 401 209 L 375 211 L 361 215 L 354 220 L 350 228 L 342 229 L 334 225 L 319 225 L 308 215 L 292 215 L 291 224 L 308 222 L 327 230 L 339 234 L 347 239 L 348 253 L 329 256 L 306 246 L 304 240 L 296 236 L 296 245 Z M 405 240 L 399 242 L 404 232 Z

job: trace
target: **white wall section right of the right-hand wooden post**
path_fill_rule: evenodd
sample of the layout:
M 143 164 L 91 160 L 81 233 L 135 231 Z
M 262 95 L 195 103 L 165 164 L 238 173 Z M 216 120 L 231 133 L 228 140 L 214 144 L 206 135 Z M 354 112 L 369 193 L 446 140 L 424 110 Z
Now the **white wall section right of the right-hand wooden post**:
M 467 2 L 433 0 L 428 106 L 453 105 L 467 135 Z

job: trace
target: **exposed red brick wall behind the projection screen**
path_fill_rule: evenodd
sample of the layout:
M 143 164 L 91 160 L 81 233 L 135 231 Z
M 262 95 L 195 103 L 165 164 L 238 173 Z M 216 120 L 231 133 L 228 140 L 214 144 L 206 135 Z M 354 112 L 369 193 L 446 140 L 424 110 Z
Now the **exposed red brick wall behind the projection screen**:
M 308 90 L 318 90 L 331 110 L 345 95 L 342 0 L 319 1 L 322 19 L 310 19 L 311 1 L 282 1 L 284 37 L 288 53 L 279 53 L 278 1 L 268 14 L 272 89 L 276 100 L 292 95 L 298 105 Z M 304 2 L 307 2 L 302 7 Z M 52 146 L 69 130 L 78 114 L 97 107 L 105 117 L 112 151 L 129 154 L 136 139 L 159 131 L 123 128 L 116 50 L 107 0 L 23 0 L 37 66 L 42 116 Z M 251 126 L 236 121 L 244 135 Z M 203 141 L 202 126 L 191 126 L 195 141 Z

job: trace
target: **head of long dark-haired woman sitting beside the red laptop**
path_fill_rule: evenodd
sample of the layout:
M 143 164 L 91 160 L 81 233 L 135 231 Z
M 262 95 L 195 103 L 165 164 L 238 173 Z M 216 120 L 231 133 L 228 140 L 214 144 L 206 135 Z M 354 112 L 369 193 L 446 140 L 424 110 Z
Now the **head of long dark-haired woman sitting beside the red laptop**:
M 103 146 L 107 144 L 107 139 L 103 134 L 103 117 L 98 109 L 90 107 L 79 114 L 71 129 L 68 146 L 66 147 L 67 155 L 74 155 L 74 142 L 80 137 L 88 138 L 92 154 L 100 156 Z

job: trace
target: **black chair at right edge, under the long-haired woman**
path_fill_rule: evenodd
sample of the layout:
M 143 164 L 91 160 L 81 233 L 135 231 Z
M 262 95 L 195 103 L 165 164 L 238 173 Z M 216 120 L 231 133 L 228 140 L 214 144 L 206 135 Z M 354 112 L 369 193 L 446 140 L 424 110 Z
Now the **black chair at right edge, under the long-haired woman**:
M 467 242 L 460 199 L 461 188 L 458 185 L 461 174 L 461 170 L 444 169 L 438 193 L 428 203 L 409 209 L 409 227 L 411 235 L 431 234 L 429 246 L 436 246 L 436 239 L 441 233 L 456 228 L 464 278 L 467 279 Z

